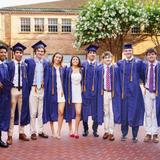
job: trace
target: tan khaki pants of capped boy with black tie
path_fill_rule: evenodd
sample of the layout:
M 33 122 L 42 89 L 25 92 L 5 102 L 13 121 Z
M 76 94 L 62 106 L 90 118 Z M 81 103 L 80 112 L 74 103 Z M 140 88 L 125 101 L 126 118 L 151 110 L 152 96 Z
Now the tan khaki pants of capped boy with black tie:
M 14 129 L 14 117 L 16 106 L 18 105 L 18 114 L 19 114 L 19 133 L 24 133 L 24 126 L 20 126 L 20 117 L 21 117 L 21 109 L 22 109 L 22 89 L 18 91 L 17 88 L 11 89 L 11 119 L 10 119 L 10 127 L 9 127 L 9 136 L 13 135 Z

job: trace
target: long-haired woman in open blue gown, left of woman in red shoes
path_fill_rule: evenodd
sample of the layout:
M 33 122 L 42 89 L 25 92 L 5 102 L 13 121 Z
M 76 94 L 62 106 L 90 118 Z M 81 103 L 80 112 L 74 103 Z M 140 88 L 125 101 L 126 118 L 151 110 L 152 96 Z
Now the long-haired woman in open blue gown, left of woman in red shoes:
M 62 66 L 63 55 L 56 52 L 51 64 L 45 69 L 44 82 L 44 123 L 50 122 L 53 137 L 60 138 L 65 108 L 65 67 Z M 54 122 L 58 121 L 58 131 Z

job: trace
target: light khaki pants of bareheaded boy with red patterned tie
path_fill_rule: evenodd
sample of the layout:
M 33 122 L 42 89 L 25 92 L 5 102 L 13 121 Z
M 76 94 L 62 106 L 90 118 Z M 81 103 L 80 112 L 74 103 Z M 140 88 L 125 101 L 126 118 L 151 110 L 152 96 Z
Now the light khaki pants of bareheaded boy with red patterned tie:
M 104 130 L 106 133 L 114 133 L 114 116 L 112 108 L 112 94 L 104 91 Z

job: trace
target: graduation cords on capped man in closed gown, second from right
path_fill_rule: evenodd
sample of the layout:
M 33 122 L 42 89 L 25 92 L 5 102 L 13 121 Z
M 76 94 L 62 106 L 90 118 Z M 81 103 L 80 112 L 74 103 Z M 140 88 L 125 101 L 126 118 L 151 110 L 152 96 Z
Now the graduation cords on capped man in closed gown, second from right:
M 134 67 L 135 58 L 132 59 L 131 70 L 130 70 L 130 82 L 133 81 L 133 67 Z M 126 60 L 123 63 L 123 76 L 122 76 L 122 99 L 124 99 L 124 78 L 125 78 L 125 69 L 126 69 Z

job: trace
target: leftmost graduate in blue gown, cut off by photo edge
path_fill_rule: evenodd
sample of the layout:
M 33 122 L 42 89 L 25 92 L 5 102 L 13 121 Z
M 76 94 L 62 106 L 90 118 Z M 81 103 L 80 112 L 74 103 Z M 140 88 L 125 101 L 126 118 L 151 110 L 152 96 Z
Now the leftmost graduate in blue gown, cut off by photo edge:
M 8 147 L 8 144 L 2 141 L 2 131 L 7 132 L 10 123 L 11 95 L 13 86 L 9 80 L 8 66 L 4 63 L 6 59 L 7 48 L 0 46 L 0 147 Z

